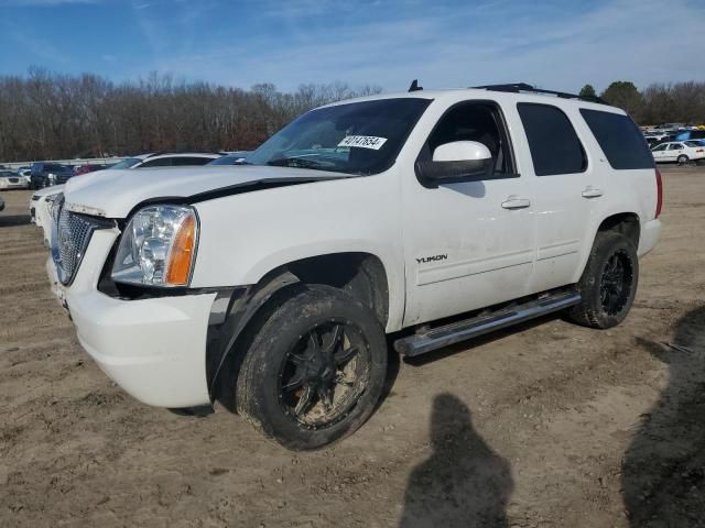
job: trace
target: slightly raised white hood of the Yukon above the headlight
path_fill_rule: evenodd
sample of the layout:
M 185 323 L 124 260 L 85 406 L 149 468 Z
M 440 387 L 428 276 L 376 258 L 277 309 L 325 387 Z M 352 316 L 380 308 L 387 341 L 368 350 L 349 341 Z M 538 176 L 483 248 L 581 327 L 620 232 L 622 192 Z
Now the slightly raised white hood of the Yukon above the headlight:
M 349 174 L 259 165 L 98 170 L 66 183 L 66 206 L 107 218 L 124 218 L 137 205 L 160 199 L 197 202 L 267 187 L 349 178 Z

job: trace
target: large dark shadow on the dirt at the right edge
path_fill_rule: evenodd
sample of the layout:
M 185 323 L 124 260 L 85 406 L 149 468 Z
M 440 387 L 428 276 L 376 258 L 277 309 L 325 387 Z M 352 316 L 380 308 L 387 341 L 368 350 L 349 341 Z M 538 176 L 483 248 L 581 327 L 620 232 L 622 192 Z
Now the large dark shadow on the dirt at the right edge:
M 670 344 L 639 344 L 669 365 L 669 384 L 622 461 L 630 526 L 705 527 L 705 307 L 679 320 Z

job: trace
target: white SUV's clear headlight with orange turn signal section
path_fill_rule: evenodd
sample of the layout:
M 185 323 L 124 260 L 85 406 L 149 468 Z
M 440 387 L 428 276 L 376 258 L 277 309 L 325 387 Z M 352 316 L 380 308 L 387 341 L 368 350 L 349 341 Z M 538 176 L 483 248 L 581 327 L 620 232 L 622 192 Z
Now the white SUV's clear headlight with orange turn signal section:
M 187 286 L 197 235 L 198 219 L 191 207 L 141 209 L 122 233 L 112 279 L 148 286 Z

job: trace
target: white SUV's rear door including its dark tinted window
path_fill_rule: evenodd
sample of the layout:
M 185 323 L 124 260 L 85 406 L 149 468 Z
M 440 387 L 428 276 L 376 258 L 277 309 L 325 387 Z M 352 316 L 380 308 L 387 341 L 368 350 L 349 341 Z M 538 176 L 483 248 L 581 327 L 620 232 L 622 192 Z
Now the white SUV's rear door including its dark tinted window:
M 529 289 L 538 293 L 574 282 L 605 176 L 584 146 L 588 132 L 577 108 L 527 101 L 517 110 L 531 158 L 524 165 L 534 176 L 536 262 Z

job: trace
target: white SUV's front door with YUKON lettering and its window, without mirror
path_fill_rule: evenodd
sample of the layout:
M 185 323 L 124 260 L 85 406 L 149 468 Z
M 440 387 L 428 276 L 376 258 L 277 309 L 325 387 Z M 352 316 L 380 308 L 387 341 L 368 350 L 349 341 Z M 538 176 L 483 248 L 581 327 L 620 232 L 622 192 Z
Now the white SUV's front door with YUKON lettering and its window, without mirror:
M 431 160 L 437 146 L 464 140 L 489 148 L 492 179 L 433 188 L 411 173 L 403 182 L 405 326 L 521 297 L 532 274 L 531 183 L 517 174 L 511 138 L 496 102 L 452 107 L 420 158 Z

